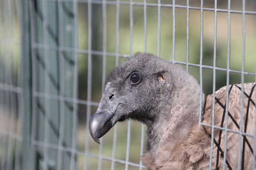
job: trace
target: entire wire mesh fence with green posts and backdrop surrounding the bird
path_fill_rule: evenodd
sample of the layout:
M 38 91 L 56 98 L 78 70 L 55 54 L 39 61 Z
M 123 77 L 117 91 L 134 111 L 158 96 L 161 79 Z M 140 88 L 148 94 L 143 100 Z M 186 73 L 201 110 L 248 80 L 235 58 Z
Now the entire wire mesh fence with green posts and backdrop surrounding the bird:
M 1 0 L 0 169 L 145 169 L 143 124 L 90 137 L 111 69 L 154 53 L 214 94 L 256 80 L 255 27 L 255 1 Z

